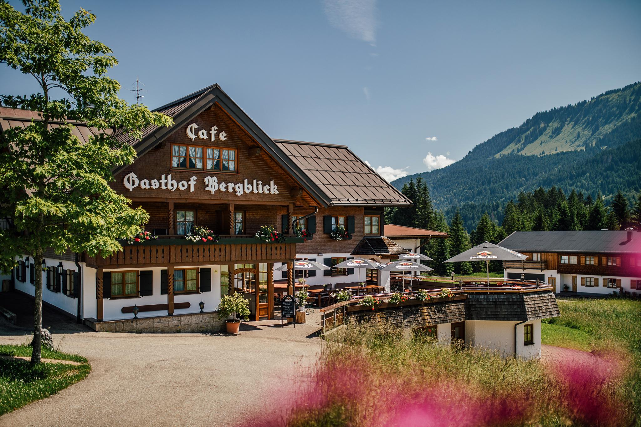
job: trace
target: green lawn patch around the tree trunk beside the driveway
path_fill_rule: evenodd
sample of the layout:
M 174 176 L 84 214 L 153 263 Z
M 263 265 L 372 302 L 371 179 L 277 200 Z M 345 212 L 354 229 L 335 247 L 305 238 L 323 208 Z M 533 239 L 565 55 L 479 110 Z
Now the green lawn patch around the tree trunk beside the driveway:
M 31 356 L 31 347 L 0 345 L 0 355 Z M 43 349 L 42 358 L 72 360 L 81 365 L 42 363 L 32 367 L 26 360 L 0 359 L 0 415 L 56 394 L 91 371 L 87 359 L 78 355 Z

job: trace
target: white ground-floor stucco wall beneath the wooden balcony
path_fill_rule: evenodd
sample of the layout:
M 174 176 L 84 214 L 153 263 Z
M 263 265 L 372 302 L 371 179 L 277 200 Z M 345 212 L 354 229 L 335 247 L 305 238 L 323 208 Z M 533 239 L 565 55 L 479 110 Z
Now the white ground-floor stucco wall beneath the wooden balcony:
M 181 267 L 183 268 L 183 267 Z M 197 266 L 185 266 L 184 268 L 197 268 Z M 199 266 L 199 268 L 211 268 L 212 269 L 212 291 L 203 292 L 199 294 L 174 294 L 174 303 L 179 302 L 189 302 L 191 305 L 188 309 L 174 309 L 174 314 L 187 314 L 187 313 L 197 313 L 200 311 L 198 303 L 203 300 L 204 310 L 205 311 L 214 311 L 221 302 L 221 268 L 220 266 Z M 105 270 L 105 271 L 124 271 L 127 269 L 115 269 L 115 270 Z M 151 304 L 166 304 L 167 295 L 160 294 L 160 271 L 166 270 L 165 268 L 143 268 L 141 271 L 153 271 L 153 294 L 149 296 L 141 296 L 139 298 L 113 298 L 110 300 L 103 300 L 103 320 L 117 320 L 117 319 L 131 319 L 133 314 L 131 313 L 122 313 L 122 307 L 133 306 L 133 305 L 151 305 Z M 94 276 L 95 277 L 95 276 Z M 89 282 L 86 284 L 83 291 L 86 294 L 92 293 L 94 296 L 94 305 L 96 303 L 96 285 L 95 280 L 94 284 Z M 138 313 L 138 318 L 146 318 L 151 316 L 163 316 L 167 314 L 167 310 L 158 310 L 158 311 L 144 311 Z M 94 316 L 88 316 L 94 317 Z

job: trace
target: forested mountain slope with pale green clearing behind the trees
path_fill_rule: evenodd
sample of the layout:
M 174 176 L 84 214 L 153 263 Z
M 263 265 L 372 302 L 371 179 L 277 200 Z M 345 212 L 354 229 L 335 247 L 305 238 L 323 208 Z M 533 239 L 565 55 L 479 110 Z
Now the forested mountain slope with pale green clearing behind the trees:
M 556 185 L 566 192 L 576 188 L 593 197 L 601 191 L 606 198 L 620 189 L 631 196 L 641 185 L 639 138 L 641 82 L 537 113 L 450 166 L 392 184 L 401 188 L 422 177 L 437 209 L 450 213 L 467 205 L 462 214 L 467 213 L 463 219 L 470 228 L 484 209 L 500 220 L 501 213 L 493 210 L 496 205 L 539 186 Z

